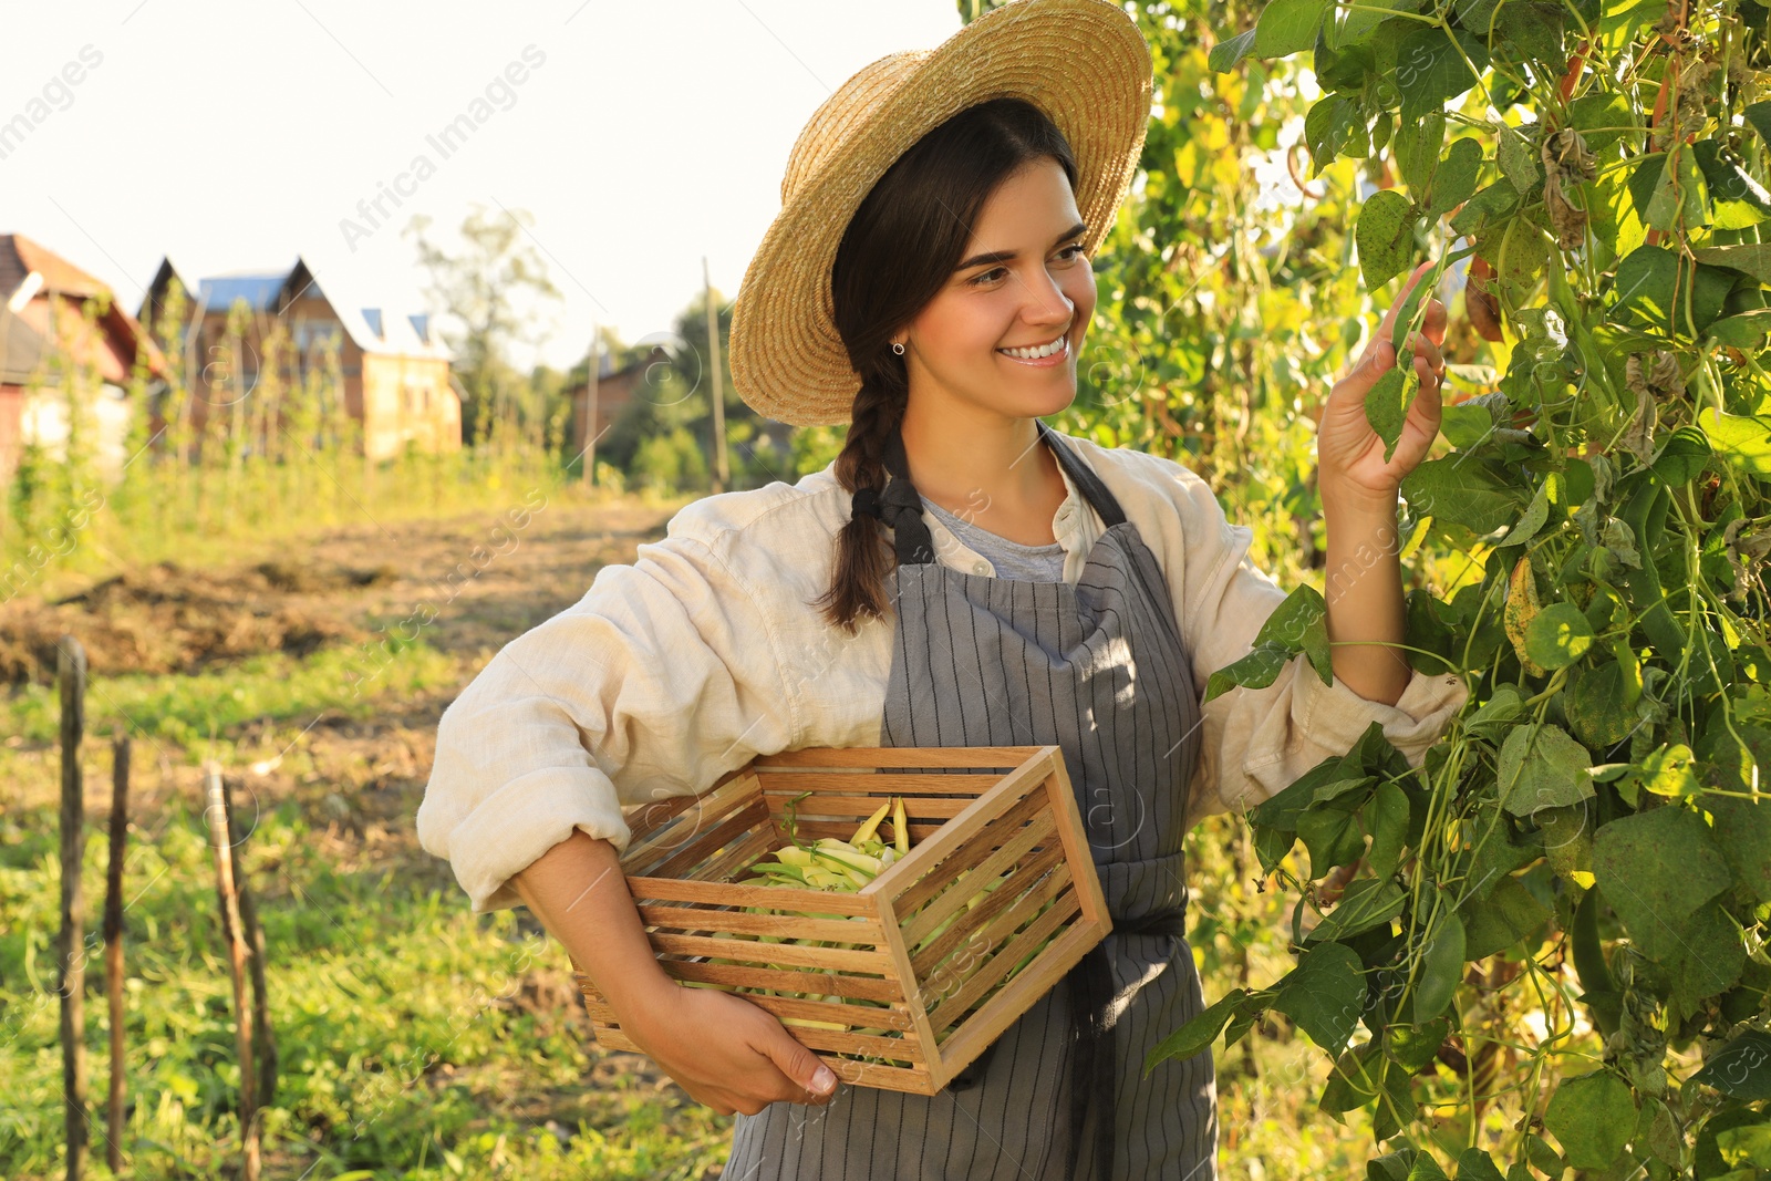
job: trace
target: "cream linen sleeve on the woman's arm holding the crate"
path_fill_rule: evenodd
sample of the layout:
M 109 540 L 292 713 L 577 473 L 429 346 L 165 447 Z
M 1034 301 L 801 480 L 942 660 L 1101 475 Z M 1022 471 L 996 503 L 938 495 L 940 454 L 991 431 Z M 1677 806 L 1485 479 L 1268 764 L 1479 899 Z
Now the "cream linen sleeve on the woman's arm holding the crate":
M 574 829 L 625 852 L 623 806 L 696 793 L 788 744 L 758 597 L 680 521 L 505 645 L 437 722 L 418 839 L 476 912 L 517 905 L 512 875 Z

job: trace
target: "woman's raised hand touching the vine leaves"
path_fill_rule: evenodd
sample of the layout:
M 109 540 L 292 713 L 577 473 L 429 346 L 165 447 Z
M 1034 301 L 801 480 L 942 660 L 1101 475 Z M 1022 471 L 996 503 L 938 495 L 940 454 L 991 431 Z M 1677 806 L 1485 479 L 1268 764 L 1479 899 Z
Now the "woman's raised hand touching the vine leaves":
M 1403 476 L 1426 459 L 1427 448 L 1438 437 L 1440 381 L 1445 374 L 1445 358 L 1440 354 L 1440 345 L 1445 342 L 1445 305 L 1438 299 L 1427 299 L 1420 331 L 1403 342 L 1404 354 L 1413 358 L 1420 391 L 1408 407 L 1403 434 L 1390 459 L 1383 457 L 1387 444 L 1365 418 L 1365 395 L 1396 367 L 1396 347 L 1390 343 L 1396 317 L 1408 303 L 1408 292 L 1424 282 L 1431 267 L 1431 262 L 1415 267 L 1403 294 L 1383 315 L 1376 336 L 1365 345 L 1365 352 L 1328 391 L 1321 418 L 1316 421 L 1316 480 L 1325 505 L 1330 499 L 1392 505 Z

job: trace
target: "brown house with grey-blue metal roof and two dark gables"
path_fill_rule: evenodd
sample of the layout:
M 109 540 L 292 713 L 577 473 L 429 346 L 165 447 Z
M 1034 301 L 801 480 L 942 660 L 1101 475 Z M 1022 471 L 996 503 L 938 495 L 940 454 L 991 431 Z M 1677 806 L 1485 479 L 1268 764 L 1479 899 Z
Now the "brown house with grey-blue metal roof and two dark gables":
M 166 259 L 149 283 L 143 306 L 163 308 L 174 278 L 186 283 Z M 236 306 L 246 312 L 237 340 L 228 331 Z M 211 414 L 225 414 L 243 395 L 250 397 L 264 342 L 278 320 L 292 345 L 282 374 L 285 388 L 324 367 L 328 349 L 338 351 L 344 409 L 363 425 L 370 459 L 397 457 L 409 444 L 432 453 L 460 450 L 460 397 L 430 317 L 372 305 L 331 278 L 322 287 L 303 259 L 287 271 L 197 280 L 182 340 L 186 384 L 197 393 L 191 425 L 198 437 Z

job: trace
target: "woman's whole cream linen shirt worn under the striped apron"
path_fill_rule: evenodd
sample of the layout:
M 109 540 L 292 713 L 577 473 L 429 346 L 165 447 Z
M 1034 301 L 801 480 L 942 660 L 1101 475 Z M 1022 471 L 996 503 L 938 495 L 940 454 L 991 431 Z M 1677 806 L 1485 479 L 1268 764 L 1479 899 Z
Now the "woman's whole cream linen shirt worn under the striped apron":
M 1162 565 L 1203 692 L 1286 591 L 1249 561 L 1250 529 L 1229 524 L 1195 473 L 1061 437 Z M 1064 485 L 1052 529 L 1073 586 L 1105 526 L 1068 473 Z M 829 586 L 848 512 L 834 464 L 694 501 L 632 565 L 602 567 L 577 604 L 512 639 L 462 689 L 437 722 L 418 839 L 448 859 L 476 912 L 517 905 L 510 876 L 574 829 L 625 852 L 623 807 L 701 791 L 758 754 L 878 745 L 894 620 L 848 636 L 809 606 Z M 994 574 L 932 512 L 923 521 L 937 561 Z M 1394 706 L 1367 701 L 1323 685 L 1300 655 L 1266 689 L 1204 705 L 1190 820 L 1268 799 L 1373 721 L 1419 767 L 1466 696 L 1459 676 L 1417 671 Z

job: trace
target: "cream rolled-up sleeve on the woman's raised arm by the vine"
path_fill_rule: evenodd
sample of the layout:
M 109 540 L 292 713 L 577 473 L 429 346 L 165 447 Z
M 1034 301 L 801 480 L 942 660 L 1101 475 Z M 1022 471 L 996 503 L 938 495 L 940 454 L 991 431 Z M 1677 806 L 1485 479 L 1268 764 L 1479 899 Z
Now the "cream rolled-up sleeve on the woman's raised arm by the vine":
M 1211 673 L 1254 648 L 1286 591 L 1254 565 L 1254 533 L 1227 521 L 1210 485 L 1172 460 L 1153 459 L 1178 510 L 1171 545 L 1185 574 L 1169 583 L 1203 694 Z M 1197 822 L 1277 795 L 1325 758 L 1346 754 L 1373 721 L 1419 767 L 1466 698 L 1461 676 L 1415 669 L 1396 705 L 1369 701 L 1341 682 L 1325 685 L 1300 653 L 1272 685 L 1231 689 L 1204 703 L 1188 814 Z

